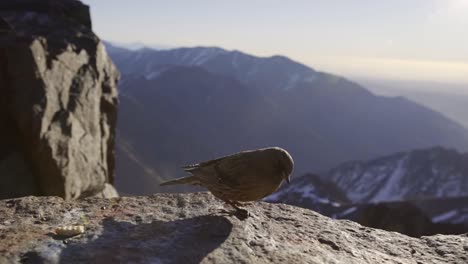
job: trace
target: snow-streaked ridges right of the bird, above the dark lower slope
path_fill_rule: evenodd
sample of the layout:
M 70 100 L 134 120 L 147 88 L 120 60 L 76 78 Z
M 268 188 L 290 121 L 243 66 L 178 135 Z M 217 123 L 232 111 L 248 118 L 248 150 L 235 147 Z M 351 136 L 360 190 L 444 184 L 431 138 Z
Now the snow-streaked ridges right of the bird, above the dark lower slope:
M 296 205 L 370 204 L 468 197 L 468 153 L 434 147 L 306 174 L 270 196 Z

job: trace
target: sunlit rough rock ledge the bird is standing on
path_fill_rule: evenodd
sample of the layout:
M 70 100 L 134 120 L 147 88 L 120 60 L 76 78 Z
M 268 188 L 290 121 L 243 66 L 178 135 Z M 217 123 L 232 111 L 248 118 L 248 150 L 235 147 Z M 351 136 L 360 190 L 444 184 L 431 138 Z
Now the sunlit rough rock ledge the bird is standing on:
M 240 220 L 208 193 L 0 201 L 0 262 L 467 263 L 468 236 L 411 238 L 256 203 Z M 56 227 L 84 225 L 63 238 Z

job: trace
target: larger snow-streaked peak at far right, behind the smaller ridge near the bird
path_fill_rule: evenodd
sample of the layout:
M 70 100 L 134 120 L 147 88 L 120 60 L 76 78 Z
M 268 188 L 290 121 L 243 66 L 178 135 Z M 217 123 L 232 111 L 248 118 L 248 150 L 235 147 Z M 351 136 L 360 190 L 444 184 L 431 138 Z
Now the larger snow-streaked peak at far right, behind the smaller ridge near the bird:
M 468 196 L 468 153 L 435 147 L 347 162 L 323 177 L 354 203 Z

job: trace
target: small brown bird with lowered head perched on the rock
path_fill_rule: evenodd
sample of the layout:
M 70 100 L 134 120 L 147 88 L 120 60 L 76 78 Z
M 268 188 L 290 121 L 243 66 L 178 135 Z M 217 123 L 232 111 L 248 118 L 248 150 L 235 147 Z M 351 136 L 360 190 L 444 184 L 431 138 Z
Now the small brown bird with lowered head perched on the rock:
M 291 155 L 280 147 L 241 151 L 229 156 L 183 166 L 190 176 L 166 181 L 160 186 L 201 186 L 242 214 L 243 203 L 274 193 L 283 181 L 290 183 L 294 170 Z

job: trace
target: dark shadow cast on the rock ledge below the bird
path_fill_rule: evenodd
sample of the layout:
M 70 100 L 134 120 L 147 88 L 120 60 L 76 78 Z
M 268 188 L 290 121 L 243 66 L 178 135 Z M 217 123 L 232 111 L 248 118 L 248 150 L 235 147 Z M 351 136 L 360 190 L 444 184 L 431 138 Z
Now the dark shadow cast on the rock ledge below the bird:
M 69 240 L 60 263 L 199 263 L 232 230 L 228 219 L 211 215 L 141 224 L 106 218 L 102 224 L 91 242 Z

